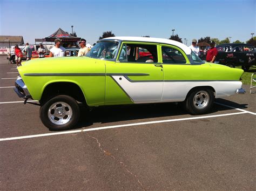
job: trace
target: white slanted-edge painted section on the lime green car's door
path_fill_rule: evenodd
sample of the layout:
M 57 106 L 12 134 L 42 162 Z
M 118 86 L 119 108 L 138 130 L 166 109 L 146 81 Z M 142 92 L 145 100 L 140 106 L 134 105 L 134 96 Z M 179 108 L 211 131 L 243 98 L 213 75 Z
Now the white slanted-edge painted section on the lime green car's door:
M 123 90 L 136 101 L 160 101 L 163 93 L 163 81 L 131 82 L 124 76 L 112 76 Z M 121 79 L 120 79 L 121 78 Z

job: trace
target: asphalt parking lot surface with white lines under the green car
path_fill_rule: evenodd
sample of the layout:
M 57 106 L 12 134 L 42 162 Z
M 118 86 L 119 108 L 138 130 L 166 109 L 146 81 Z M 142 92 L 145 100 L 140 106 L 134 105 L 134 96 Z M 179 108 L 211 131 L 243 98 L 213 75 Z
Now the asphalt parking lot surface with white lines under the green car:
M 216 99 L 211 113 L 179 104 L 97 107 L 52 132 L 37 102 L 12 87 L 0 56 L 0 189 L 255 189 L 256 94 Z

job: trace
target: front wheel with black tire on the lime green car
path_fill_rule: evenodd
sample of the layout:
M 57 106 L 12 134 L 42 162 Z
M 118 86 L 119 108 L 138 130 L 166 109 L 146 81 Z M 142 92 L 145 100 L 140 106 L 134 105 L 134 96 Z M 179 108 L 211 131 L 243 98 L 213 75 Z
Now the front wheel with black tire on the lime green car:
M 40 108 L 40 118 L 50 130 L 70 129 L 77 124 L 80 110 L 77 101 L 68 95 L 57 95 Z

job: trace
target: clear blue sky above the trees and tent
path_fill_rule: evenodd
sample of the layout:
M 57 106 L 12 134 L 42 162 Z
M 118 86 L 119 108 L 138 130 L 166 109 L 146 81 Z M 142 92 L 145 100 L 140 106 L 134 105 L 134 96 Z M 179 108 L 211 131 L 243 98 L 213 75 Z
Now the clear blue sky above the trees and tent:
M 96 43 L 104 31 L 116 36 L 182 40 L 210 36 L 245 42 L 256 35 L 256 0 L 0 0 L 0 35 L 24 42 L 50 36 L 58 28 Z

